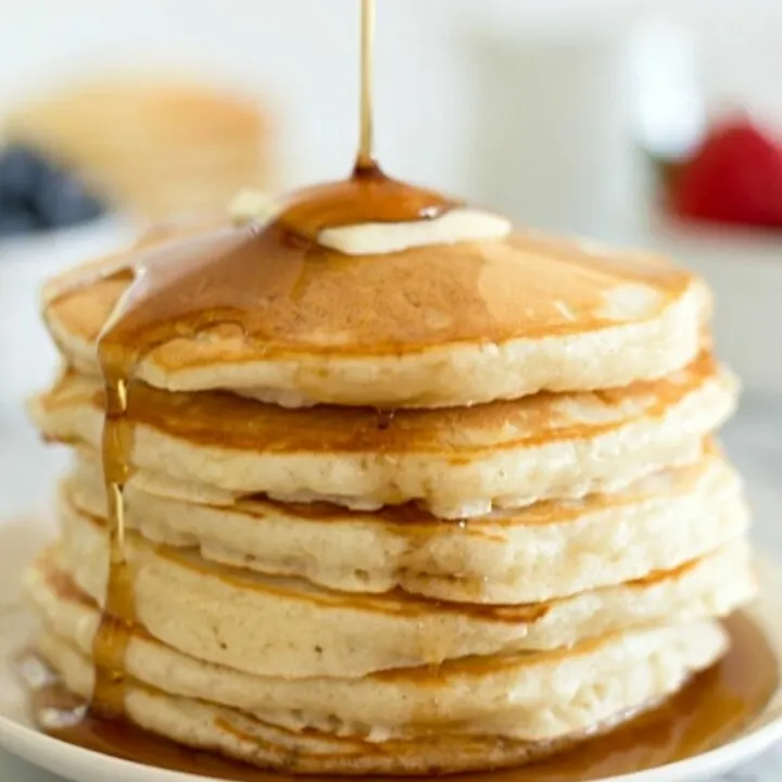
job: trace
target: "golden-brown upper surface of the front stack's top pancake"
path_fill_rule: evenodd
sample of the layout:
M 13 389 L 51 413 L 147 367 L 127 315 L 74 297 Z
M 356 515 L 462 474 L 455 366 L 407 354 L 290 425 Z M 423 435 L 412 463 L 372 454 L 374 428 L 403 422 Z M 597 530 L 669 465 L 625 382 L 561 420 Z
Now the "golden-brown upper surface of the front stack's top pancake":
M 652 320 L 693 283 L 657 256 L 531 234 L 352 256 L 274 228 L 225 228 L 68 273 L 47 289 L 47 320 L 94 342 L 141 268 L 152 281 L 124 330 L 165 335 L 151 341 L 167 369 L 564 337 Z

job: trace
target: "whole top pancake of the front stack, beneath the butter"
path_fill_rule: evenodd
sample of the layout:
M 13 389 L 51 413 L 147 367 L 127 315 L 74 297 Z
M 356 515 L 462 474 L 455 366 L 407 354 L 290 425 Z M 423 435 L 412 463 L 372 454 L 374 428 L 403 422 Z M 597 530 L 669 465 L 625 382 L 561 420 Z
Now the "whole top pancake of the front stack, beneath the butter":
M 98 374 L 98 337 L 134 277 L 130 337 L 187 321 L 142 352 L 136 377 L 289 406 L 468 405 L 655 379 L 697 354 L 709 308 L 705 286 L 663 258 L 532 234 L 354 256 L 226 227 L 52 280 L 45 317 L 81 371 Z

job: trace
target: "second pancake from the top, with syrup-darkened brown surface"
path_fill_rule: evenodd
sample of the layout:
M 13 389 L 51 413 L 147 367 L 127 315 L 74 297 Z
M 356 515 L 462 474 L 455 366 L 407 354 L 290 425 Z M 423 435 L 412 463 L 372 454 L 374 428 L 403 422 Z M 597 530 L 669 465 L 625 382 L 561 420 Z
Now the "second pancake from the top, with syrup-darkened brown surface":
M 129 389 L 137 468 L 236 495 L 357 509 L 420 501 L 442 518 L 615 491 L 694 461 L 732 412 L 735 382 L 703 354 L 663 380 L 468 408 L 289 411 L 226 393 Z M 53 440 L 98 447 L 103 384 L 66 373 L 34 400 Z

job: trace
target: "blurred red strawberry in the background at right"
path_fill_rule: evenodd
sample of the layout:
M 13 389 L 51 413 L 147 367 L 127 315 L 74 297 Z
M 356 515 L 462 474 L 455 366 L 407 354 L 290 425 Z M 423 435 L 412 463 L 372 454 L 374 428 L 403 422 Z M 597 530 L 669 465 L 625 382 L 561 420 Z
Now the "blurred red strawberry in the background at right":
M 746 121 L 715 128 L 681 167 L 673 209 L 694 219 L 782 227 L 782 147 Z

